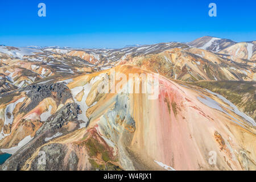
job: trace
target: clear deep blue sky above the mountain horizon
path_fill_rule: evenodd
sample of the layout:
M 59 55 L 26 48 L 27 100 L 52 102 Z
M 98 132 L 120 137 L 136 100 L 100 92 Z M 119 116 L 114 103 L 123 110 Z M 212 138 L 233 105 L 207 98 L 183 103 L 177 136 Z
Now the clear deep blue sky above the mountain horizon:
M 46 17 L 38 4 L 46 4 Z M 217 17 L 208 5 L 217 5 Z M 256 1 L 0 1 L 0 44 L 118 48 L 210 35 L 256 40 Z

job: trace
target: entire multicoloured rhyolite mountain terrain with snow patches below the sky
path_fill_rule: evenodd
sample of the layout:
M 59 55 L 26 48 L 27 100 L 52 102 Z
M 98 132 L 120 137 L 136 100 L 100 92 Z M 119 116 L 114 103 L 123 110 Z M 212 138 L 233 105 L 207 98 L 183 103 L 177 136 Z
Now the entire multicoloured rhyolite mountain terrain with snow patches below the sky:
M 256 170 L 250 44 L 204 37 L 122 49 L 1 46 L 0 154 L 12 155 L 0 169 Z M 159 73 L 158 84 L 146 84 L 157 86 L 156 97 L 126 92 L 142 91 L 142 77 L 105 84 L 113 72 Z

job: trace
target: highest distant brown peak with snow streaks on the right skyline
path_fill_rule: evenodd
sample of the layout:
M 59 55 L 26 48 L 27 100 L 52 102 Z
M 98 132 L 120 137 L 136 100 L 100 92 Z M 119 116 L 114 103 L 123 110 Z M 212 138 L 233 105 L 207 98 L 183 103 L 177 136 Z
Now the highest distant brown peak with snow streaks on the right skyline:
M 214 38 L 212 36 L 203 36 L 188 43 L 188 45 L 191 47 L 201 48 L 213 52 L 221 51 L 222 49 L 232 46 L 233 44 L 236 44 L 236 42 L 233 40 Z

